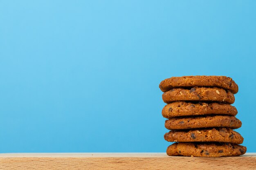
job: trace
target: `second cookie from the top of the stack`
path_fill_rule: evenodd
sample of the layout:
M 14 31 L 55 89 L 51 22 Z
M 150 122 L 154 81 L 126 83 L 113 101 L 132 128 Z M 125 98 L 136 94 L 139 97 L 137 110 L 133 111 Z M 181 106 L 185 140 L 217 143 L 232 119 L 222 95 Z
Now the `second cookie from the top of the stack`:
M 193 87 L 190 89 L 173 88 L 162 95 L 165 103 L 175 101 L 223 102 L 233 104 L 234 94 L 223 88 Z

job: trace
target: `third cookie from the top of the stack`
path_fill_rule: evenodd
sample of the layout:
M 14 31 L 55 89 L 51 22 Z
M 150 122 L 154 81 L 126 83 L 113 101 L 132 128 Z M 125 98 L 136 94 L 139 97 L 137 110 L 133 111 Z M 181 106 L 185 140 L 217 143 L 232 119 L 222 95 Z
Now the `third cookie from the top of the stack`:
M 163 117 L 169 119 L 180 116 L 196 115 L 231 115 L 235 116 L 237 110 L 234 106 L 222 103 L 191 103 L 191 102 L 173 102 L 164 106 L 162 110 Z

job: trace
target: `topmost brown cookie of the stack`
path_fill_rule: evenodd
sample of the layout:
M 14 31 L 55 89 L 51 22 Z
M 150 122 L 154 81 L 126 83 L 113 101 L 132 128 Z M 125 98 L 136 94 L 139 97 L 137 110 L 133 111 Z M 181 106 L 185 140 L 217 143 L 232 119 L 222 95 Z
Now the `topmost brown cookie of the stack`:
M 159 88 L 161 91 L 170 91 L 172 88 L 179 87 L 219 87 L 231 91 L 236 94 L 238 92 L 238 85 L 230 77 L 226 76 L 183 76 L 183 77 L 171 77 L 164 79 Z

